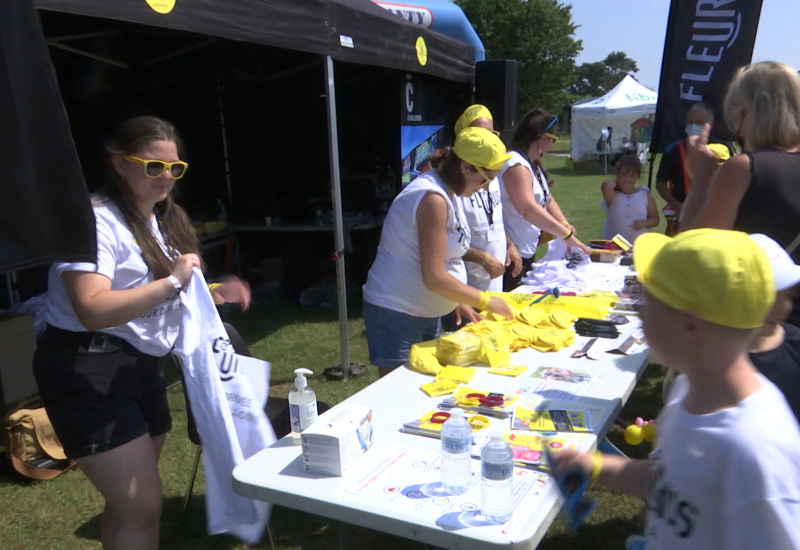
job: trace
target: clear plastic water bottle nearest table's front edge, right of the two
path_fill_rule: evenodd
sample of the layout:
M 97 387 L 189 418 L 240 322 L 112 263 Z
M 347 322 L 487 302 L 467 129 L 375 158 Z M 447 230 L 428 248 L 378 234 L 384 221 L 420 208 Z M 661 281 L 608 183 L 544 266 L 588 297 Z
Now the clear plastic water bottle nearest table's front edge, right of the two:
M 514 455 L 498 426 L 481 451 L 481 512 L 489 523 L 505 523 L 514 511 Z

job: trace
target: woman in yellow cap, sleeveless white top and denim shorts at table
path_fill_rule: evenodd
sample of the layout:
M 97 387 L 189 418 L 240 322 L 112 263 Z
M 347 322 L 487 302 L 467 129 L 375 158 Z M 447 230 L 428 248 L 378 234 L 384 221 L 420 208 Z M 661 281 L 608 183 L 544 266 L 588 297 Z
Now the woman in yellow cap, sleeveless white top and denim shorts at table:
M 395 198 L 364 284 L 370 362 L 381 376 L 408 361 L 411 345 L 437 338 L 439 318 L 466 304 L 511 317 L 500 298 L 466 284 L 469 227 L 457 196 L 487 185 L 509 155 L 484 128 L 467 128 Z

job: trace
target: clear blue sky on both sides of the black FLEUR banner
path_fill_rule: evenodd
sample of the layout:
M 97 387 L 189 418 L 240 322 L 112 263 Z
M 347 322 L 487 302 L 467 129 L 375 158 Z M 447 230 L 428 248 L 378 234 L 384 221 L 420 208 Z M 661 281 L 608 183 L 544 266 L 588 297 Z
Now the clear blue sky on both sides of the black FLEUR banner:
M 670 0 L 572 0 L 575 38 L 583 41 L 576 63 L 602 61 L 614 51 L 636 61 L 633 76 L 657 90 Z M 753 61 L 781 61 L 800 69 L 797 0 L 763 0 Z

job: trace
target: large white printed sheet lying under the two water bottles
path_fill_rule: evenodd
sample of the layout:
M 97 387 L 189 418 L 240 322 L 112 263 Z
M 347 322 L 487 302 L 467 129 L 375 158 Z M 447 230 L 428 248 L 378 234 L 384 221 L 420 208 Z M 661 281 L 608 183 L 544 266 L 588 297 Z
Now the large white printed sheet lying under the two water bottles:
M 408 518 L 423 525 L 435 518 L 436 525 L 444 529 L 480 526 L 496 529 L 498 534 L 525 528 L 528 516 L 516 513 L 520 502 L 526 500 L 526 510 L 536 506 L 539 495 L 553 483 L 543 472 L 515 468 L 514 516 L 505 525 L 490 525 L 480 514 L 478 460 L 472 461 L 473 483 L 461 495 L 451 494 L 442 487 L 441 456 L 436 451 L 397 445 L 359 471 L 363 473 L 340 490 L 369 502 L 371 508 L 390 510 L 394 517 Z

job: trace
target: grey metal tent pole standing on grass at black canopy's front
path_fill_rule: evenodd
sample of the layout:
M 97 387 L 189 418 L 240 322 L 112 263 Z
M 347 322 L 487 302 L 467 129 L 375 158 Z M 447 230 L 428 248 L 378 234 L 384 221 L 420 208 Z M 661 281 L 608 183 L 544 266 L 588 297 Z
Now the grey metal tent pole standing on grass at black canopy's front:
M 342 351 L 344 379 L 350 376 L 350 346 L 347 331 L 347 288 L 344 270 L 344 232 L 342 229 L 342 179 L 339 167 L 339 128 L 336 120 L 336 82 L 333 58 L 325 56 L 325 98 L 328 106 L 328 144 L 333 202 L 333 238 L 336 243 L 336 291 L 339 304 L 339 344 Z

